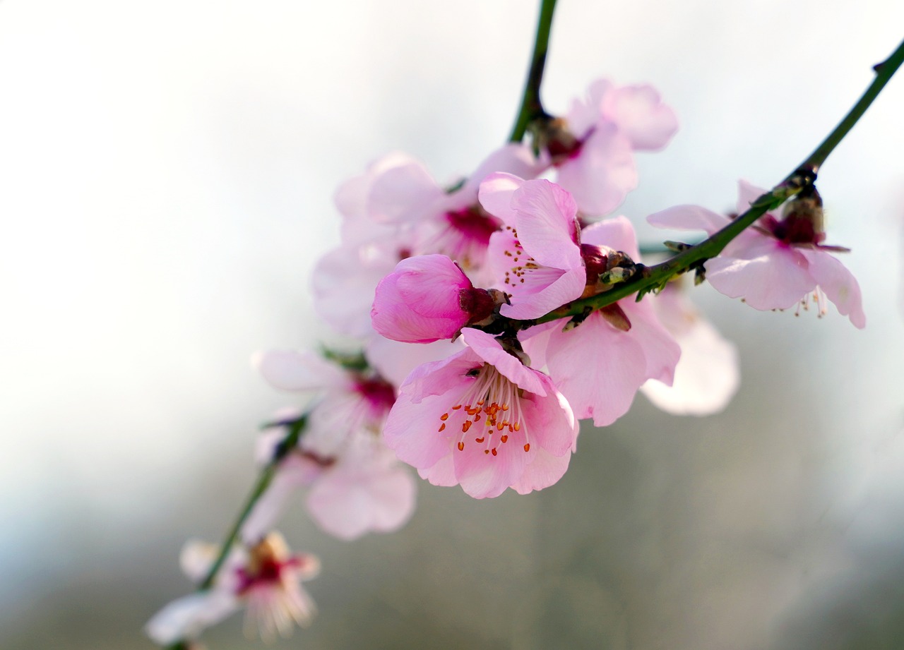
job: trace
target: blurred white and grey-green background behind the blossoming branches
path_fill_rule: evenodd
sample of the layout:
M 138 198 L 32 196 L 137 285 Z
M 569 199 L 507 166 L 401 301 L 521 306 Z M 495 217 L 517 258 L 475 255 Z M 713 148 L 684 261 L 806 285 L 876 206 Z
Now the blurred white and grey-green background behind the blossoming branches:
M 621 211 L 734 205 L 796 167 L 899 43 L 904 5 L 560 0 L 543 98 L 650 82 L 673 144 Z M 440 181 L 504 141 L 524 0 L 0 3 L 0 647 L 149 650 L 218 540 L 259 422 L 263 348 L 334 338 L 309 281 L 337 184 L 390 150 Z M 899 73 L 900 75 L 901 73 Z M 420 485 L 398 534 L 283 527 L 319 554 L 314 626 L 275 647 L 904 645 L 904 79 L 821 173 L 867 330 L 703 286 L 737 342 L 725 413 L 643 396 L 528 497 Z M 662 235 L 641 228 L 648 242 Z M 262 647 L 240 617 L 212 650 Z

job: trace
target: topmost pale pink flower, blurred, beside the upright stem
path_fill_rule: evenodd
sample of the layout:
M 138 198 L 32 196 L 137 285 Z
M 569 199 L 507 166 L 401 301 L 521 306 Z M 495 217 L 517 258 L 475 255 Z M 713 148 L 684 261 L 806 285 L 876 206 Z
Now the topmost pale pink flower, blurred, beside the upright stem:
M 565 127 L 568 142 L 550 146 L 556 181 L 583 212 L 605 215 L 637 186 L 634 152 L 662 149 L 678 121 L 654 88 L 616 87 L 599 79 L 583 100 L 573 102 Z

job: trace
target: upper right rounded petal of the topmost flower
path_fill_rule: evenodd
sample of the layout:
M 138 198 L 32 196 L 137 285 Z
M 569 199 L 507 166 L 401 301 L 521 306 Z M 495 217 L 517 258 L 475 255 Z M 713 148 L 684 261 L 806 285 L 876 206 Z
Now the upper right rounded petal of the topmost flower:
M 673 110 L 652 86 L 625 86 L 607 93 L 603 115 L 618 125 L 635 149 L 662 149 L 678 130 Z

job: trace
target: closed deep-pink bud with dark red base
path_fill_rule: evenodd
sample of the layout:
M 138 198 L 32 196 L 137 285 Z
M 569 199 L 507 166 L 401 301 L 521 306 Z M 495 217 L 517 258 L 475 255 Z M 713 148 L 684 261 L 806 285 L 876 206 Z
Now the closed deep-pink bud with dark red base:
M 494 307 L 490 293 L 475 289 L 446 255 L 418 255 L 402 260 L 377 285 L 371 319 L 387 339 L 431 343 L 452 339 Z

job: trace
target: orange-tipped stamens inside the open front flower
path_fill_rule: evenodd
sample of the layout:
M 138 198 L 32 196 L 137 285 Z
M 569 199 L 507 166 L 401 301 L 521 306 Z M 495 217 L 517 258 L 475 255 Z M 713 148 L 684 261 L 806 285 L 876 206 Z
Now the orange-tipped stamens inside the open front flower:
M 467 372 L 474 377 L 457 404 L 439 416 L 438 432 L 456 441 L 459 451 L 472 439 L 484 446 L 487 456 L 496 456 L 510 436 L 523 436 L 523 450 L 531 450 L 521 410 L 522 390 L 489 364 Z

